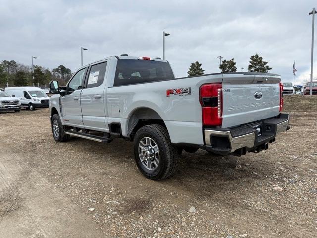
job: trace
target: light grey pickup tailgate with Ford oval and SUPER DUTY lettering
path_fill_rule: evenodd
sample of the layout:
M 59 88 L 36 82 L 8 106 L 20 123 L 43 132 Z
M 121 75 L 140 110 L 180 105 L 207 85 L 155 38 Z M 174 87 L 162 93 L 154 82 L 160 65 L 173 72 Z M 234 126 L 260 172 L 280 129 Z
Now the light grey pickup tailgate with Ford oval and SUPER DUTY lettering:
M 279 115 L 279 82 L 275 74 L 223 74 L 222 128 Z

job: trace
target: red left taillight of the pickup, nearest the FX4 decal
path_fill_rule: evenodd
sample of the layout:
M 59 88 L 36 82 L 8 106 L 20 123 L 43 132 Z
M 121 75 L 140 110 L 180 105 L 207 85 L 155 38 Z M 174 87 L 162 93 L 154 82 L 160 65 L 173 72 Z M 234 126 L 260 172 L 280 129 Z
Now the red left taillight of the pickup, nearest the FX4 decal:
M 203 125 L 222 125 L 222 84 L 211 83 L 200 87 Z

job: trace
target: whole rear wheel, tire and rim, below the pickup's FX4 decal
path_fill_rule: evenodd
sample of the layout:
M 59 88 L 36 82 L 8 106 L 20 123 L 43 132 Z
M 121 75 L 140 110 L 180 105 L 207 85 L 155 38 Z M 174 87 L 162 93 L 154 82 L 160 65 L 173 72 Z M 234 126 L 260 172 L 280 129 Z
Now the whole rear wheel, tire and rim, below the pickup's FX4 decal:
M 134 158 L 145 177 L 161 180 L 174 174 L 178 151 L 165 127 L 146 125 L 134 137 Z

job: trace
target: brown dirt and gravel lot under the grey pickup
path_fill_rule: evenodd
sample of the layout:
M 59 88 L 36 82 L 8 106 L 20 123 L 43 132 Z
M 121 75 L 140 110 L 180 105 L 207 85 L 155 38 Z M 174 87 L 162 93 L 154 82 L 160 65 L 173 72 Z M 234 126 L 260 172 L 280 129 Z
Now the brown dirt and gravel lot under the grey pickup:
M 160 182 L 131 142 L 56 143 L 48 109 L 0 114 L 0 237 L 317 237 L 317 97 L 285 111 L 269 150 L 184 153 Z

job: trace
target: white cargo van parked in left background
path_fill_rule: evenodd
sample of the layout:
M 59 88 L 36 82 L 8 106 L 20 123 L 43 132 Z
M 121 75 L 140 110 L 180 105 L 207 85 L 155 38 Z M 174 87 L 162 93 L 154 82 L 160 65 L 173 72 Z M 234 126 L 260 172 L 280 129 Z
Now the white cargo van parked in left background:
M 49 107 L 49 97 L 37 87 L 8 87 L 4 89 L 9 95 L 20 99 L 21 107 L 34 110 Z

